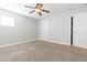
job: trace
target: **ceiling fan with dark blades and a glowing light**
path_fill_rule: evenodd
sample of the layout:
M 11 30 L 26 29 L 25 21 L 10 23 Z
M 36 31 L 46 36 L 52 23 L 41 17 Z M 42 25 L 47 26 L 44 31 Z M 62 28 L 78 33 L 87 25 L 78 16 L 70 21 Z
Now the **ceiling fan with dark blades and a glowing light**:
M 48 10 L 43 9 L 42 3 L 36 3 L 35 7 L 30 7 L 30 6 L 24 6 L 24 7 L 33 9 L 32 11 L 30 11 L 30 13 L 36 12 L 39 15 L 42 15 L 42 12 L 50 13 Z

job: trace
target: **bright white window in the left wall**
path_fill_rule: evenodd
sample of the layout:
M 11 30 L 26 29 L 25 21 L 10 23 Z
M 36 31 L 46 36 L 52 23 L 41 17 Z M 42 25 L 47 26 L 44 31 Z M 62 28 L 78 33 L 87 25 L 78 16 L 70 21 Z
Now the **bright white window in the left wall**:
M 7 15 L 1 15 L 1 26 L 14 26 L 14 19 Z

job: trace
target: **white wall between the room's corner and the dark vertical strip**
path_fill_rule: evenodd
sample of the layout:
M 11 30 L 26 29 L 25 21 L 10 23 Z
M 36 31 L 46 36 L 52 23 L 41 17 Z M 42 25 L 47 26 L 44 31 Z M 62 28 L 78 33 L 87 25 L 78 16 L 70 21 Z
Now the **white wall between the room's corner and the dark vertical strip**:
M 69 13 L 62 13 L 40 21 L 41 37 L 69 45 Z

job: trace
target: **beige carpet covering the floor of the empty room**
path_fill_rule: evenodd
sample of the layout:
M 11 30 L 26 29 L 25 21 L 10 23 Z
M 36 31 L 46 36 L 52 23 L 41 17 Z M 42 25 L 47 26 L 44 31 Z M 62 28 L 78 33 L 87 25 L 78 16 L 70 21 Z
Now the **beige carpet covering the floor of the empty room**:
M 85 62 L 87 50 L 44 41 L 0 48 L 2 62 Z

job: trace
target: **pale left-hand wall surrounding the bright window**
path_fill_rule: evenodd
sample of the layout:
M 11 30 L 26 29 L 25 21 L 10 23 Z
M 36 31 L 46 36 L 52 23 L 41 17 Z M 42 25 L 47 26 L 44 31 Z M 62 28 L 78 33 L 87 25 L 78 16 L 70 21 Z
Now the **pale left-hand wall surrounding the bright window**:
M 36 20 L 0 9 L 0 17 L 1 15 L 14 18 L 14 26 L 0 25 L 0 45 L 37 37 Z

